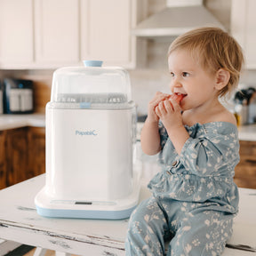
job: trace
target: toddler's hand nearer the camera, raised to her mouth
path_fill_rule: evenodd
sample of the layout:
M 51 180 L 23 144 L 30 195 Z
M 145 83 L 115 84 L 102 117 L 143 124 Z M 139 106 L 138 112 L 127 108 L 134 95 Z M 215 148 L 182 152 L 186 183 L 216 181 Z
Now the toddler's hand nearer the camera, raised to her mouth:
M 177 98 L 177 95 L 172 94 L 168 100 L 161 101 L 156 107 L 156 115 L 159 116 L 167 130 L 183 125 L 180 99 Z

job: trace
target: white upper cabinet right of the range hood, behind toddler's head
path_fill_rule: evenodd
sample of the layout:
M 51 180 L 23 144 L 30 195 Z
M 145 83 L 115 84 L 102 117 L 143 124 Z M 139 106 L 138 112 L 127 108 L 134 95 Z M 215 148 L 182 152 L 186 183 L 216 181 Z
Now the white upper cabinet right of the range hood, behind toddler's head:
M 246 68 L 256 68 L 256 1 L 232 0 L 231 33 L 244 49 Z

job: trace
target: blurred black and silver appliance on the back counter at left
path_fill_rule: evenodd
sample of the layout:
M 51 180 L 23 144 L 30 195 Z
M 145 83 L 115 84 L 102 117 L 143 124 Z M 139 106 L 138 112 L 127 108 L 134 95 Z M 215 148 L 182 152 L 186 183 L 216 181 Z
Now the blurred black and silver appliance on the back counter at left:
M 5 78 L 3 95 L 4 114 L 33 113 L 33 81 Z

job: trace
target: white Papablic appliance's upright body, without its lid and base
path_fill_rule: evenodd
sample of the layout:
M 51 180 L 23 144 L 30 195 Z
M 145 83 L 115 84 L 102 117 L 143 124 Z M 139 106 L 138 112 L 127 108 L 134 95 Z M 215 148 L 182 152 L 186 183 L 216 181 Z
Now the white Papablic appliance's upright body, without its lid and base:
M 46 113 L 46 193 L 111 201 L 132 193 L 132 108 Z

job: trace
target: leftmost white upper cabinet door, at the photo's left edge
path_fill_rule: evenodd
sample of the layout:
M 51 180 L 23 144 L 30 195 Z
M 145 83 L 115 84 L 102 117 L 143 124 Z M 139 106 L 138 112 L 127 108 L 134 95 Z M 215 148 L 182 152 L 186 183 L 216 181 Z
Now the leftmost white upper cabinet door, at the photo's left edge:
M 33 62 L 33 0 L 0 1 L 0 67 Z

